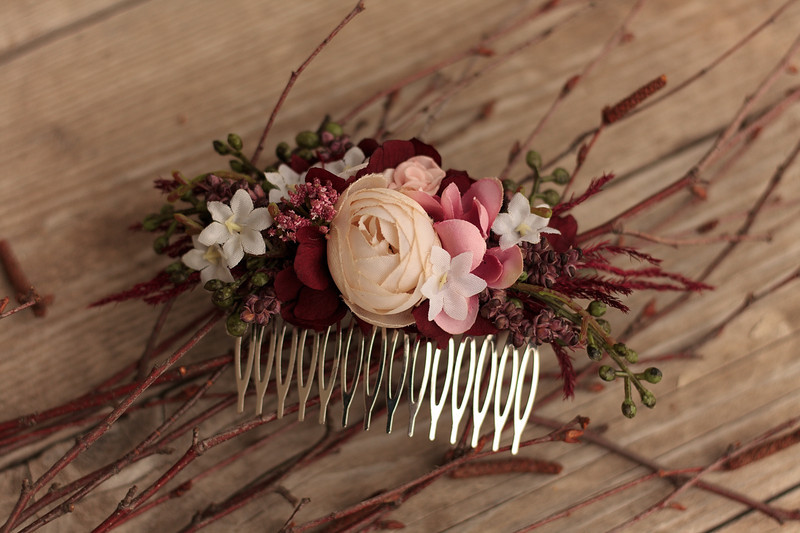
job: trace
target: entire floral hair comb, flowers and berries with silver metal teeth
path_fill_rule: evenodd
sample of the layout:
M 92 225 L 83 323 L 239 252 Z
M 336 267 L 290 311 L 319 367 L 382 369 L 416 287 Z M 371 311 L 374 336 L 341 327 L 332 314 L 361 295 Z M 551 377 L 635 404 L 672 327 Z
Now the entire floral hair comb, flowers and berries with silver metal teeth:
M 335 394 L 347 425 L 361 390 L 364 429 L 380 403 L 390 432 L 405 394 L 409 436 L 427 403 L 433 440 L 449 404 L 450 441 L 468 413 L 475 446 L 493 406 L 493 448 L 509 424 L 516 453 L 543 344 L 558 359 L 565 396 L 574 386 L 568 351 L 584 348 L 593 359 L 605 352 L 617 363 L 600 373 L 625 380 L 626 416 L 636 412 L 633 388 L 645 406 L 655 405 L 644 383 L 657 383 L 660 371 L 633 373 L 627 363 L 636 353 L 616 342 L 600 317 L 608 305 L 625 309 L 618 295 L 636 287 L 630 278 L 698 287 L 658 268 L 611 266 L 615 254 L 652 261 L 634 249 L 577 246 L 568 211 L 611 176 L 559 203 L 555 190 L 540 186 L 563 185 L 569 175 L 561 168 L 541 175 L 533 151 L 533 192 L 523 194 L 515 182 L 444 170 L 435 148 L 417 139 L 356 144 L 325 120 L 295 141 L 281 143 L 277 161 L 260 170 L 231 134 L 214 142 L 219 154 L 233 156 L 231 171 L 157 180 L 168 203 L 142 228 L 157 234 L 156 252 L 175 261 L 98 303 L 134 295 L 157 303 L 202 285 L 235 338 L 239 412 L 252 381 L 261 415 L 272 379 L 277 416 L 294 383 L 303 420 L 316 381 L 311 403 L 319 404 L 320 423 Z

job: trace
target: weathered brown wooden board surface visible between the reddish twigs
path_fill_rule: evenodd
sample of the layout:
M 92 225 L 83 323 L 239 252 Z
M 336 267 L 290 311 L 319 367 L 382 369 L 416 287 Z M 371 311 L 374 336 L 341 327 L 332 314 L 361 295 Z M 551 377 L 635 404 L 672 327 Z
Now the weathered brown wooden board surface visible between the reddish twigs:
M 86 392 L 93 384 L 139 357 L 156 311 L 140 303 L 87 310 L 86 305 L 154 273 L 159 264 L 146 235 L 126 228 L 160 202 L 154 177 L 181 169 L 193 175 L 221 166 L 210 140 L 236 131 L 253 147 L 292 69 L 352 7 L 335 2 L 169 2 L 49 0 L 0 4 L 0 238 L 10 241 L 29 277 L 55 295 L 47 318 L 24 313 L 0 323 L 0 418 L 41 410 Z M 578 132 L 599 122 L 600 109 L 642 83 L 666 74 L 676 84 L 695 73 L 777 9 L 782 1 L 651 1 L 634 19 L 634 38 L 614 49 L 553 117 L 536 145 L 545 157 Z M 562 84 L 594 57 L 632 2 L 599 2 L 579 11 L 549 39 L 515 56 L 454 98 L 426 133 L 440 144 L 446 165 L 493 175 L 509 146 L 524 138 Z M 300 78 L 279 116 L 268 150 L 301 129 L 315 127 L 325 113 L 341 115 L 378 89 L 454 51 L 534 4 L 481 0 L 428 2 L 368 1 L 342 34 Z M 525 30 L 529 36 L 569 13 L 565 8 Z M 737 52 L 717 70 L 646 113 L 606 131 L 581 172 L 580 184 L 604 171 L 626 175 L 579 211 L 582 227 L 604 221 L 663 184 L 677 179 L 710 146 L 707 134 L 733 117 L 759 81 L 789 48 L 800 28 L 800 5 Z M 523 36 L 523 37 L 524 37 Z M 519 37 L 517 41 L 519 41 Z M 503 50 L 515 42 L 497 45 Z M 795 60 L 800 65 L 800 59 Z M 770 90 L 775 101 L 800 81 L 787 74 Z M 494 101 L 491 118 L 451 135 L 482 104 Z M 374 118 L 377 108 L 371 109 Z M 420 123 L 400 137 L 419 132 Z M 797 142 L 800 110 L 790 108 L 764 130 L 706 202 L 663 230 L 675 234 L 719 218 L 735 231 L 775 168 Z M 683 150 L 678 148 L 697 141 Z M 566 161 L 572 166 L 572 159 Z M 787 275 L 800 259 L 800 167 L 777 191 L 782 203 L 766 209 L 752 233 L 770 242 L 741 245 L 710 279 L 714 292 L 694 298 L 680 313 L 631 341 L 642 356 L 675 349 L 714 326 L 749 293 Z M 679 194 L 674 209 L 692 197 Z M 666 211 L 664 209 L 661 214 Z M 652 219 L 633 227 L 647 230 Z M 666 266 L 696 275 L 721 245 L 648 245 Z M 0 280 L 0 296 L 12 295 Z M 633 299 L 643 305 L 650 295 Z M 192 294 L 176 315 L 194 313 L 204 301 Z M 634 421 L 619 413 L 621 387 L 602 393 L 579 391 L 574 401 L 556 402 L 542 416 L 567 420 L 589 416 L 608 424 L 606 435 L 667 467 L 703 465 L 726 447 L 747 441 L 797 415 L 800 405 L 800 291 L 788 285 L 737 317 L 702 349 L 702 358 L 662 364 L 665 379 L 655 387 L 659 405 Z M 178 319 L 176 319 L 176 322 Z M 617 328 L 626 319 L 614 316 Z M 218 332 L 200 355 L 224 350 Z M 583 361 L 580 362 L 581 365 Z M 549 363 L 552 367 L 552 363 Z M 225 387 L 232 386 L 232 375 Z M 545 382 L 546 389 L 555 385 Z M 233 417 L 233 414 L 230 415 Z M 230 422 L 221 420 L 219 425 Z M 400 421 L 402 424 L 402 420 Z M 73 479 L 101 464 L 143 431 L 130 424 L 112 431 L 59 477 Z M 210 434 L 215 428 L 201 428 Z M 531 427 L 530 435 L 544 430 Z M 221 500 L 269 465 L 319 435 L 314 422 L 287 433 L 234 467 L 225 481 L 200 486 L 153 514 L 150 522 L 126 529 L 171 531 L 208 502 Z M 379 489 L 398 485 L 432 468 L 447 448 L 444 431 L 428 443 L 423 432 L 359 436 L 284 485 L 312 502 L 297 520 L 309 520 L 352 504 Z M 188 443 L 179 443 L 183 449 Z M 0 515 L 5 517 L 23 477 L 38 475 L 70 441 L 0 477 Z M 645 472 L 591 445 L 545 445 L 525 456 L 563 462 L 556 477 L 508 475 L 476 480 L 443 479 L 423 497 L 410 500 L 391 518 L 411 531 L 513 531 L 622 480 Z M 800 460 L 790 448 L 757 465 L 708 479 L 755 498 L 777 497 L 776 505 L 800 506 Z M 152 480 L 151 468 L 174 460 L 155 457 L 104 485 L 75 512 L 46 531 L 83 531 L 112 509 L 130 484 Z M 211 459 L 209 459 L 211 460 Z M 658 501 L 669 491 L 652 481 L 631 492 L 572 514 L 541 531 L 603 531 Z M 768 531 L 774 521 L 696 489 L 679 498 L 685 511 L 665 510 L 636 526 L 641 531 Z M 291 509 L 269 495 L 224 519 L 217 531 L 273 531 Z M 735 518 L 735 519 L 734 519 Z M 728 523 L 728 520 L 732 520 Z M 797 530 L 788 525 L 785 530 Z

